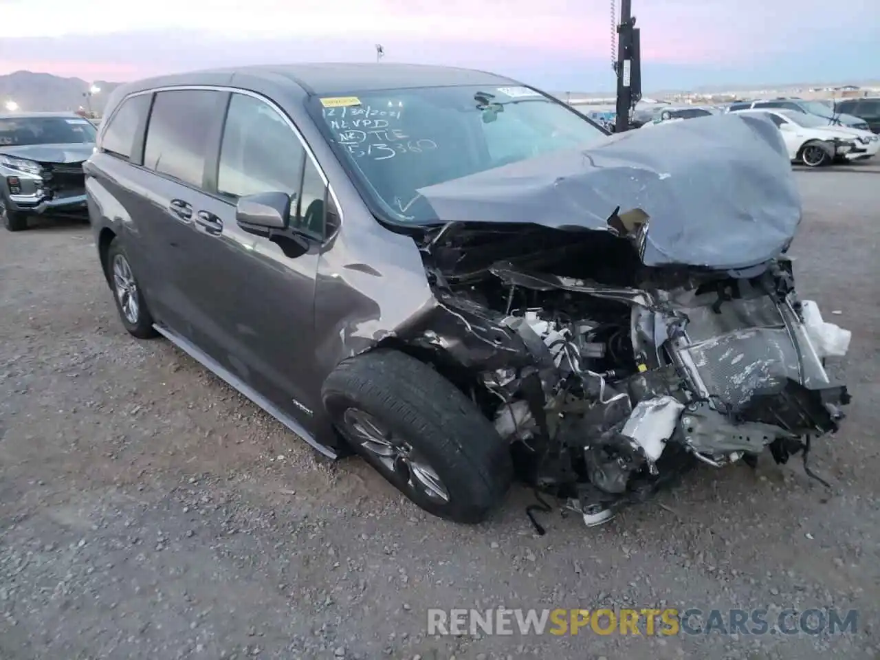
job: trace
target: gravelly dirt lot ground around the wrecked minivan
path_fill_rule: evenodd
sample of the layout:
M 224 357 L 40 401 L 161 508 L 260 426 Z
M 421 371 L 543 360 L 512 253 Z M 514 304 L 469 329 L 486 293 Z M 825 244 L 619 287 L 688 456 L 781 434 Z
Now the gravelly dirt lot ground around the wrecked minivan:
M 812 457 L 832 493 L 767 456 L 544 537 L 522 489 L 490 524 L 427 517 L 128 337 L 87 227 L 0 232 L 0 658 L 880 658 L 880 178 L 798 176 L 801 292 L 853 331 L 855 400 Z M 833 637 L 426 634 L 429 607 L 500 605 L 860 613 Z

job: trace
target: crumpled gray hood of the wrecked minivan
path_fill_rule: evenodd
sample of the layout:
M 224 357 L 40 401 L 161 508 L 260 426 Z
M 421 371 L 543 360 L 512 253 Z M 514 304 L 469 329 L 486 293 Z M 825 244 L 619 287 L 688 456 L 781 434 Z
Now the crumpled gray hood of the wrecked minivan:
M 615 209 L 640 209 L 648 266 L 754 266 L 783 252 L 801 220 L 779 130 L 737 114 L 627 131 L 419 192 L 444 223 L 612 231 Z

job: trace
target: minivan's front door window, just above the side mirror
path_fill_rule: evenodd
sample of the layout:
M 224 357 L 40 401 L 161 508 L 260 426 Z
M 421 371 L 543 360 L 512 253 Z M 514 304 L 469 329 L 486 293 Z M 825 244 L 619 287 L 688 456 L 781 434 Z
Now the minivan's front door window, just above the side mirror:
M 303 144 L 275 108 L 245 94 L 232 94 L 217 171 L 220 194 L 296 194 L 304 158 Z

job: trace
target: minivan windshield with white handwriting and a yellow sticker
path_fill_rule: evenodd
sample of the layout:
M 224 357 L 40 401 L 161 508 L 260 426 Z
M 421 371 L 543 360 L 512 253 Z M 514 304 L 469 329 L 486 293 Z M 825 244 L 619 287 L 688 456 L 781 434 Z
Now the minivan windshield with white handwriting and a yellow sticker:
M 436 222 L 416 191 L 605 132 L 527 87 L 451 86 L 312 99 L 312 113 L 370 206 L 392 222 Z

